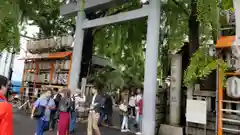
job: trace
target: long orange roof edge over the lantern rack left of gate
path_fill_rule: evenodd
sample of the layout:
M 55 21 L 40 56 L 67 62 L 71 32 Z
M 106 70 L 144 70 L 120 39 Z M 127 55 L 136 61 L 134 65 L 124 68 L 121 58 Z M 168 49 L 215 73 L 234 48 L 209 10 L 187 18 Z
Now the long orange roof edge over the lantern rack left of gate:
M 56 52 L 56 53 L 44 53 L 44 54 L 32 54 L 19 60 L 33 60 L 33 59 L 61 59 L 72 55 L 72 52 Z

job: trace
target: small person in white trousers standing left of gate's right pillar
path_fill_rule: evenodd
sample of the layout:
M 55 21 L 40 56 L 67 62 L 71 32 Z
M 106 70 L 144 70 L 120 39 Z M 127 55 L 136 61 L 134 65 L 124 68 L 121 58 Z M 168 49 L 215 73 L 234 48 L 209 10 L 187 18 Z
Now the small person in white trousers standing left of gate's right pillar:
M 123 120 L 122 120 L 122 126 L 121 126 L 121 132 L 128 132 L 128 103 L 126 100 L 124 100 L 120 106 L 120 111 L 122 113 L 123 116 Z

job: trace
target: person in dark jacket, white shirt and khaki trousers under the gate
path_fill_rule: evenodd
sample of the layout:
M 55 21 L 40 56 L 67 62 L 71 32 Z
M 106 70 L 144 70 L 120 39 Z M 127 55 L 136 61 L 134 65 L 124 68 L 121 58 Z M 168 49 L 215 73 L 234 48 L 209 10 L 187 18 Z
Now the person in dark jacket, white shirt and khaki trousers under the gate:
M 98 94 L 98 90 L 96 86 L 91 88 L 93 97 L 91 98 L 89 114 L 88 114 L 88 129 L 87 135 L 93 135 L 93 130 L 95 131 L 96 135 L 101 135 L 99 127 L 98 127 L 98 120 L 99 120 L 99 113 L 100 113 L 100 104 L 101 104 L 101 96 Z

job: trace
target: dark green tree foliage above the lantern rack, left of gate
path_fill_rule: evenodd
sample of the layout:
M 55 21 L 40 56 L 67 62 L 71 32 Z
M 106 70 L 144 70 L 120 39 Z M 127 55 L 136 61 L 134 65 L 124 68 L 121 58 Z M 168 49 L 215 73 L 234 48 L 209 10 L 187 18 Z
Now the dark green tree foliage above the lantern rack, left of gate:
M 39 38 L 73 34 L 75 19 L 60 16 L 62 4 L 60 0 L 24 0 L 20 5 L 22 20 L 40 28 Z

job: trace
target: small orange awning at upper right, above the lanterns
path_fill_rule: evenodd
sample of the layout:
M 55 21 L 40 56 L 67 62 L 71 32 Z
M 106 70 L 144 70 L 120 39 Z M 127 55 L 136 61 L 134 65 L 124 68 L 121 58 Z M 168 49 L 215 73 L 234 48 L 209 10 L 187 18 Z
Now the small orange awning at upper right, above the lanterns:
M 218 39 L 216 48 L 229 48 L 232 46 L 235 36 L 222 36 Z

